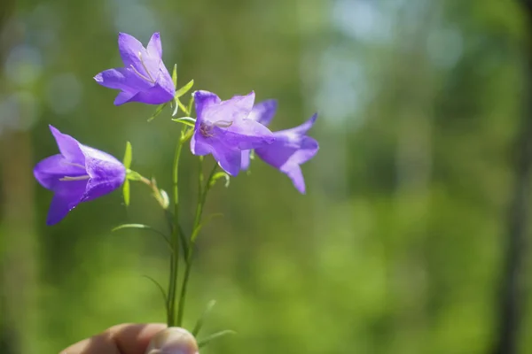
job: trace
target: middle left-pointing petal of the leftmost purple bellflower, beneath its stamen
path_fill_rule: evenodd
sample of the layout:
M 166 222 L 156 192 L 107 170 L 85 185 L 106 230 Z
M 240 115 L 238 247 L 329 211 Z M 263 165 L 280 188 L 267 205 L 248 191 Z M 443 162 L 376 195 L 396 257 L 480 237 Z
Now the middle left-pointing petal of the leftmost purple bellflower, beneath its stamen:
M 78 177 L 87 174 L 83 165 L 75 165 L 66 160 L 63 155 L 53 155 L 44 158 L 34 168 L 35 179 L 45 188 L 59 191 L 68 186 L 66 181 L 60 179 Z M 86 183 L 86 181 L 85 181 Z

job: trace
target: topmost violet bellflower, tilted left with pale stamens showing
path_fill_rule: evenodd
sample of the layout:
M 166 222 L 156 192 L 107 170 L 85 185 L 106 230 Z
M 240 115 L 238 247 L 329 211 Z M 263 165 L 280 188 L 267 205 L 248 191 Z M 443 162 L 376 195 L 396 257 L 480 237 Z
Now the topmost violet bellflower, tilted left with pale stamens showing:
M 98 73 L 94 80 L 109 89 L 120 89 L 115 105 L 128 102 L 164 104 L 171 101 L 176 86 L 162 62 L 159 32 L 154 33 L 146 48 L 131 35 L 118 35 L 118 50 L 124 67 Z

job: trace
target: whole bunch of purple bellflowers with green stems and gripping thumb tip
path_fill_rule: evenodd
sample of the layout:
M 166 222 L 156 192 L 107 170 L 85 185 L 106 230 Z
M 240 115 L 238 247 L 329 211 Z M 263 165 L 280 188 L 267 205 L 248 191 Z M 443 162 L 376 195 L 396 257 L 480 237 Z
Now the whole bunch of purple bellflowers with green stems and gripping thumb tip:
M 131 168 L 132 147 L 129 142 L 120 161 L 50 126 L 59 154 L 44 158 L 34 169 L 35 179 L 45 189 L 53 191 L 46 223 L 54 225 L 78 204 L 105 196 L 119 188 L 123 192 L 124 204 L 129 206 L 130 184 L 145 184 L 168 220 L 168 230 L 161 231 L 143 224 L 124 224 L 115 229 L 142 228 L 152 231 L 163 237 L 170 250 L 168 286 L 165 288 L 154 281 L 164 297 L 168 328 L 153 338 L 146 354 L 199 353 L 200 348 L 208 342 L 231 333 L 230 330 L 222 330 L 199 337 L 204 319 L 214 303 L 207 304 L 206 311 L 195 327 L 182 327 L 194 245 L 201 227 L 209 219 L 203 215 L 207 194 L 217 181 L 225 181 L 225 186 L 228 186 L 230 178 L 247 170 L 255 156 L 285 173 L 293 181 L 295 189 L 305 193 L 300 165 L 317 154 L 317 141 L 307 135 L 317 115 L 299 127 L 271 132 L 268 126 L 277 110 L 277 101 L 265 100 L 255 104 L 254 92 L 223 101 L 212 92 L 196 90 L 185 100 L 194 82 L 190 81 L 177 89 L 176 65 L 170 75 L 162 61 L 159 33 L 152 35 L 146 47 L 133 36 L 121 33 L 118 47 L 123 67 L 98 73 L 94 77 L 95 81 L 106 88 L 120 90 L 114 99 L 115 105 L 129 102 L 158 105 L 148 121 L 159 116 L 169 105 L 172 118 L 168 119 L 168 123 L 181 126 L 176 136 L 169 195 L 165 189 L 160 189 L 154 178 L 146 178 Z M 199 163 L 198 196 L 190 230 L 182 227 L 184 223 L 180 210 L 184 205 L 179 199 L 179 162 L 185 145 L 190 146 L 192 155 L 198 157 Z M 215 163 L 206 176 L 202 171 L 203 164 L 207 163 L 207 155 L 212 155 Z M 182 266 L 184 272 L 180 277 L 178 271 Z

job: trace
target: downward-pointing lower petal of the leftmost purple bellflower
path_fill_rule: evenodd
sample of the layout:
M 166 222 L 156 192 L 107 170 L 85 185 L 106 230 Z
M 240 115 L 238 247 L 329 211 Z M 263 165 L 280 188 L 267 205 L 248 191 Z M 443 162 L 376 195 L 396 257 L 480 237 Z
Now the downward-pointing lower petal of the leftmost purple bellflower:
M 46 225 L 54 225 L 66 217 L 81 202 L 87 181 L 67 181 L 68 189 L 55 193 L 51 199 Z

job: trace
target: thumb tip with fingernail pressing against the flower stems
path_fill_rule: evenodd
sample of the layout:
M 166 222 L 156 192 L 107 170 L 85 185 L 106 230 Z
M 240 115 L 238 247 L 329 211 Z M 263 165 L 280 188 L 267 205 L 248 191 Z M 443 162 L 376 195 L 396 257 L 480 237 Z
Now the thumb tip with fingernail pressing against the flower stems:
M 154 335 L 145 354 L 200 354 L 196 338 L 182 327 L 168 327 Z

